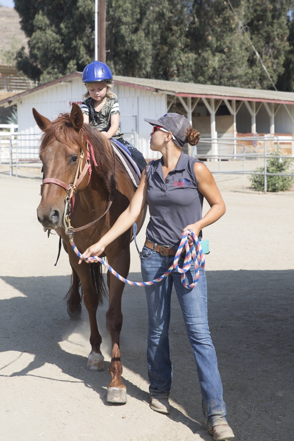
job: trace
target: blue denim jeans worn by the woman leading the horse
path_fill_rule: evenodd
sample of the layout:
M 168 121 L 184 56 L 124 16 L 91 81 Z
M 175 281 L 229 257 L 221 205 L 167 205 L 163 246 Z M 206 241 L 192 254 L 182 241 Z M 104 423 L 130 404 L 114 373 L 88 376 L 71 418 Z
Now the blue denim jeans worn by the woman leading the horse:
M 140 254 L 143 281 L 156 279 L 172 265 L 174 256 L 143 247 Z M 182 267 L 183 259 L 179 259 Z M 186 273 L 186 280 L 192 283 L 195 269 Z M 163 281 L 145 286 L 148 305 L 148 347 L 147 363 L 152 396 L 168 396 L 171 390 L 172 364 L 169 355 L 168 328 L 171 317 L 171 290 L 175 292 L 181 306 L 186 331 L 197 365 L 202 394 L 202 410 L 208 429 L 226 424 L 227 408 L 223 402 L 223 387 L 217 368 L 216 351 L 212 344 L 207 320 L 207 286 L 205 270 L 200 267 L 200 277 L 195 288 L 182 286 L 181 274 L 175 270 Z

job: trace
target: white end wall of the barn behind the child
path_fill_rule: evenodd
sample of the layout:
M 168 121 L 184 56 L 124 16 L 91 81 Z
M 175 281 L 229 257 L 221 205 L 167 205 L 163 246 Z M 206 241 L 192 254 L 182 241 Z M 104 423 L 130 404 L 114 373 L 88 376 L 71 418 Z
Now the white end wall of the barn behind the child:
M 23 141 L 22 145 L 32 146 L 33 138 L 28 135 L 36 133 L 41 135 L 33 118 L 33 107 L 49 120 L 55 120 L 61 112 L 71 111 L 71 102 L 81 104 L 84 93 L 86 88 L 82 84 L 82 79 L 76 77 L 22 97 L 18 102 L 19 133 L 27 137 L 26 143 Z M 157 119 L 164 115 L 167 109 L 167 96 L 127 86 L 115 86 L 114 93 L 119 99 L 120 125 L 122 131 L 126 133 L 126 138 L 131 141 L 137 137 L 136 144 L 144 157 L 157 158 L 158 153 L 149 149 L 151 126 L 144 121 L 144 118 Z M 34 141 L 33 145 L 37 145 L 37 141 Z

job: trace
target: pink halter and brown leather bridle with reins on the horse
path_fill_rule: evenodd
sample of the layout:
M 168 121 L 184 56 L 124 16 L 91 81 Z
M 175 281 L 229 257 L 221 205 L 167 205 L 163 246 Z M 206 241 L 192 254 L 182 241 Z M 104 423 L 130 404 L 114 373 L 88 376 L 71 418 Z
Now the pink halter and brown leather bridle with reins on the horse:
M 91 174 L 92 174 L 92 166 L 90 163 L 90 152 L 92 154 L 92 158 L 93 158 L 93 162 L 94 165 L 96 165 L 97 167 L 97 162 L 95 160 L 95 156 L 94 156 L 94 152 L 93 152 L 93 146 L 92 144 L 89 142 L 88 138 L 86 138 L 86 164 L 82 170 L 82 162 L 83 159 L 85 157 L 85 153 L 84 151 L 81 149 L 80 152 L 80 156 L 79 156 L 79 161 L 78 161 L 78 167 L 74 176 L 74 181 L 72 184 L 67 184 L 63 181 L 61 181 L 60 179 L 56 179 L 56 178 L 45 178 L 43 179 L 42 185 L 41 185 L 41 195 L 42 195 L 42 190 L 43 190 L 43 185 L 44 184 L 56 184 L 59 185 L 60 187 L 63 187 L 66 191 L 67 191 L 67 196 L 65 198 L 65 207 L 64 207 L 64 214 L 63 214 L 63 224 L 64 224 L 64 228 L 65 228 L 65 232 L 68 235 L 70 242 L 73 241 L 73 233 L 74 232 L 78 232 L 81 230 L 84 230 L 88 227 L 90 227 L 93 224 L 96 224 L 96 222 L 98 222 L 101 217 L 105 216 L 105 214 L 108 212 L 108 210 L 110 209 L 111 205 L 112 205 L 112 201 L 114 198 L 114 194 L 115 191 L 112 194 L 112 197 L 110 199 L 110 201 L 108 202 L 108 206 L 106 207 L 104 213 L 98 217 L 97 219 L 95 219 L 95 221 L 90 222 L 89 224 L 84 225 L 83 227 L 79 227 L 79 228 L 74 228 L 71 226 L 71 220 L 69 218 L 71 212 L 74 209 L 74 196 L 77 192 L 77 187 L 78 185 L 82 182 L 82 180 L 84 179 L 86 172 L 89 173 L 89 178 L 88 178 L 88 182 L 86 187 L 88 186 L 89 182 L 90 182 L 90 178 L 91 178 Z M 114 173 L 115 173 L 115 180 L 116 180 L 116 160 L 115 160 L 115 154 L 114 154 Z M 72 199 L 72 206 L 71 206 L 71 199 Z M 46 230 L 45 230 L 46 231 Z

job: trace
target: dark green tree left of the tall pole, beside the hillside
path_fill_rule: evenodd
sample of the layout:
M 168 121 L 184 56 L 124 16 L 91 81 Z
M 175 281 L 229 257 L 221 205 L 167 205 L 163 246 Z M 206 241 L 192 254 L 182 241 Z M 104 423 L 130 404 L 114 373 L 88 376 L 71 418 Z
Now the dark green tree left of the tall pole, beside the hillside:
M 93 60 L 93 0 L 15 0 L 29 41 L 17 54 L 17 67 L 41 83 L 83 70 Z

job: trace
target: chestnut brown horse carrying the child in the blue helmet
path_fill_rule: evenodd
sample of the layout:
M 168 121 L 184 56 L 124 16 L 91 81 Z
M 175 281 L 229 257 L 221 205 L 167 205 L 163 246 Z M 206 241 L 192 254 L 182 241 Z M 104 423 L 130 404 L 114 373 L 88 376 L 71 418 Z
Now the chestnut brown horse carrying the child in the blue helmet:
M 119 160 L 116 161 L 115 166 L 115 156 L 109 140 L 89 124 L 83 124 L 82 111 L 78 105 L 73 104 L 71 114 L 61 114 L 52 122 L 41 116 L 35 109 L 33 109 L 33 116 L 44 132 L 41 138 L 40 158 L 46 181 L 43 180 L 42 198 L 37 208 L 38 221 L 46 229 L 57 230 L 62 238 L 63 247 L 68 253 L 72 268 L 72 286 L 67 295 L 67 311 L 71 318 L 79 318 L 81 314 L 79 285 L 82 284 L 83 300 L 89 314 L 92 347 L 86 369 L 104 370 L 104 357 L 100 351 L 102 339 L 96 319 L 97 307 L 102 302 L 104 288 L 101 264 L 87 265 L 82 262 L 78 265 L 78 257 L 72 250 L 63 225 L 67 187 L 62 184 L 71 184 L 75 177 L 81 177 L 74 195 L 74 208 L 70 213 L 71 224 L 74 228 L 97 220 L 113 199 L 109 211 L 99 221 L 75 233 L 74 242 L 81 252 L 97 242 L 114 224 L 127 208 L 135 188 Z M 93 146 L 91 150 L 94 157 L 90 160 L 89 153 L 87 160 L 88 142 L 86 140 L 89 141 L 90 146 Z M 81 164 L 78 162 L 80 157 Z M 88 169 L 89 164 L 91 167 Z M 87 171 L 83 176 L 84 170 Z M 72 201 L 71 205 L 73 205 Z M 137 221 L 138 228 L 141 226 L 142 219 L 141 213 Z M 104 250 L 104 256 L 107 256 L 109 265 L 123 277 L 127 277 L 130 268 L 131 235 L 130 229 Z M 112 359 L 109 366 L 111 381 L 108 385 L 107 401 L 126 403 L 127 388 L 121 379 L 123 367 L 119 351 L 119 334 L 123 323 L 121 297 L 124 284 L 109 271 L 107 284 L 109 308 L 106 313 L 106 325 L 112 339 Z

